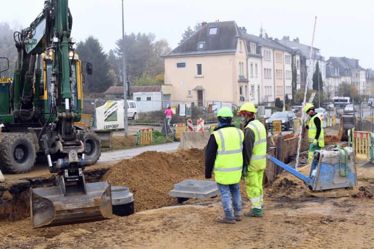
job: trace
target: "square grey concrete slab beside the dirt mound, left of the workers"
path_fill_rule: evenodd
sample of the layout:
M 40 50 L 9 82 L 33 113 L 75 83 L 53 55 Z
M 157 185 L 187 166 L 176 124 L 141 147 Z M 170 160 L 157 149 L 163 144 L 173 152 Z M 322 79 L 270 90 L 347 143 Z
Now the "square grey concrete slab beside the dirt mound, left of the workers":
M 186 180 L 174 184 L 174 189 L 169 191 L 169 196 L 207 199 L 216 196 L 218 193 L 215 181 Z

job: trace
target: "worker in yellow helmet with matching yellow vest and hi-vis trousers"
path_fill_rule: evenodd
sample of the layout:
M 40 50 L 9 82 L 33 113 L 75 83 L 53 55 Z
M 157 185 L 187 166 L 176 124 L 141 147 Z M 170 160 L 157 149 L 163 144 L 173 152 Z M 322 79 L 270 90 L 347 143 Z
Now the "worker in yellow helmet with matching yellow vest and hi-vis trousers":
M 256 109 L 252 103 L 244 104 L 238 115 L 245 122 L 243 142 L 243 176 L 246 181 L 247 195 L 252 203 L 248 217 L 262 217 L 263 191 L 262 178 L 266 168 L 266 137 L 264 125 L 256 120 Z

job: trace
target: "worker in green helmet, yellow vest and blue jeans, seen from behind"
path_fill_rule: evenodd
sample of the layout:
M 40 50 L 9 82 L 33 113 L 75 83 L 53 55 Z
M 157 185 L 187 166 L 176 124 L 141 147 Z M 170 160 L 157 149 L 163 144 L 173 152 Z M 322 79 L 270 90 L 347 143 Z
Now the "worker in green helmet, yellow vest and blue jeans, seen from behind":
M 218 111 L 218 127 L 210 135 L 205 154 L 205 178 L 212 178 L 212 172 L 214 173 L 224 212 L 224 217 L 217 217 L 216 221 L 229 224 L 242 220 L 239 182 L 243 167 L 244 134 L 235 125 L 231 125 L 232 117 L 228 107 Z

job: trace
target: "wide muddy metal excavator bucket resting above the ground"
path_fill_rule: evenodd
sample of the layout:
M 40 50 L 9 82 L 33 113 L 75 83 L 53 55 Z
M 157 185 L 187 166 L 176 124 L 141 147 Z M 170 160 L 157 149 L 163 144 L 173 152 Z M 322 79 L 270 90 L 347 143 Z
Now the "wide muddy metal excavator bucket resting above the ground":
M 109 181 L 83 182 L 83 184 L 67 185 L 66 188 L 61 186 L 61 181 L 59 183 L 60 185 L 56 187 L 30 188 L 32 228 L 112 218 Z

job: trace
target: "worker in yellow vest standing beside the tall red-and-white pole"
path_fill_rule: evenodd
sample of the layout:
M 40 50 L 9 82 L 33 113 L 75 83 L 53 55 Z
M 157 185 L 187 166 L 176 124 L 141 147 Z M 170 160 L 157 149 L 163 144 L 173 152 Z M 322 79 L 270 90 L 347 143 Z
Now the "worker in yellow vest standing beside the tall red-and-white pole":
M 320 150 L 321 147 L 324 147 L 324 137 L 323 137 L 323 128 L 322 128 L 322 120 L 314 112 L 313 104 L 306 104 L 305 105 L 305 113 L 310 117 L 309 125 L 305 125 L 305 128 L 308 129 L 308 137 L 309 137 L 309 152 L 308 152 L 308 161 L 309 164 L 312 163 L 313 152 Z

